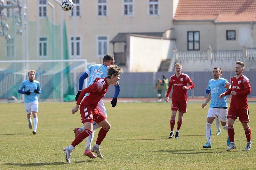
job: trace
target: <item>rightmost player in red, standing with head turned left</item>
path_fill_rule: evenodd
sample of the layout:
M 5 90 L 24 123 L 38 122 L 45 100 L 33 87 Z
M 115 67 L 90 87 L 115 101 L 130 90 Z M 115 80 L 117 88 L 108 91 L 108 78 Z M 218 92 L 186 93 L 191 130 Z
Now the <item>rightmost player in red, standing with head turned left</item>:
M 228 109 L 228 136 L 230 139 L 230 145 L 226 149 L 230 151 L 236 149 L 235 145 L 235 131 L 233 124 L 237 117 L 242 123 L 244 128 L 244 133 L 247 139 L 247 144 L 244 151 L 249 151 L 251 149 L 251 129 L 248 125 L 249 119 L 249 107 L 247 103 L 247 95 L 251 93 L 250 81 L 247 77 L 243 75 L 244 63 L 241 61 L 236 62 L 235 73 L 236 76 L 230 79 L 231 88 L 222 94 L 220 94 L 220 99 L 226 95 L 231 94 L 231 103 Z

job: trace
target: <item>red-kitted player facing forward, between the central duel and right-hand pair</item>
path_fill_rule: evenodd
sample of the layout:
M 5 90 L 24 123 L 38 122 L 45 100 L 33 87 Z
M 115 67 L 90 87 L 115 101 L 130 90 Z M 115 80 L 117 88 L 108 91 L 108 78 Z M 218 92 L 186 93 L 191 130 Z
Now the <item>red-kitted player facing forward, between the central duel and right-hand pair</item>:
M 175 125 L 175 117 L 177 110 L 179 110 L 179 116 L 177 121 L 177 130 L 175 132 L 175 138 L 179 138 L 179 130 L 181 123 L 183 121 L 182 117 L 183 114 L 187 112 L 187 90 L 193 89 L 195 85 L 193 84 L 192 80 L 188 77 L 187 74 L 181 73 L 182 65 L 180 63 L 176 63 L 174 65 L 175 73 L 171 78 L 169 82 L 169 87 L 167 90 L 167 94 L 165 96 L 165 101 L 169 102 L 169 95 L 172 90 L 173 85 L 173 92 L 172 92 L 172 116 L 170 120 L 170 126 L 171 126 L 171 133 L 169 138 L 173 137 L 173 128 Z M 189 86 L 187 87 L 187 84 Z

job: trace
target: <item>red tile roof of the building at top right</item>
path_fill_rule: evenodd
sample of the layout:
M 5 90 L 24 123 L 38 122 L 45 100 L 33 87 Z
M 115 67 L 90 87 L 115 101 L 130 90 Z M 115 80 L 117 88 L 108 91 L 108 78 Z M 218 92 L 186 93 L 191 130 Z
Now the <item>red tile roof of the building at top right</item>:
M 256 0 L 179 0 L 176 20 L 256 21 Z

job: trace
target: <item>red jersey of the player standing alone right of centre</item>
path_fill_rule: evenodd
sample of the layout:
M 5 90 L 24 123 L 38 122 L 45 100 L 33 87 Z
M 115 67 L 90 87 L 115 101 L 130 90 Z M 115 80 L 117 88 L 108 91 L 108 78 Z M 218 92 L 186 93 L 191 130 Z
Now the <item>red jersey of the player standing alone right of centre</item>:
M 182 88 L 184 85 L 187 86 L 187 84 L 189 84 L 188 89 L 193 89 L 195 87 L 187 74 L 181 73 L 179 77 L 174 74 L 170 78 L 169 87 L 165 97 L 169 97 L 173 85 L 172 101 L 187 101 L 187 90 Z

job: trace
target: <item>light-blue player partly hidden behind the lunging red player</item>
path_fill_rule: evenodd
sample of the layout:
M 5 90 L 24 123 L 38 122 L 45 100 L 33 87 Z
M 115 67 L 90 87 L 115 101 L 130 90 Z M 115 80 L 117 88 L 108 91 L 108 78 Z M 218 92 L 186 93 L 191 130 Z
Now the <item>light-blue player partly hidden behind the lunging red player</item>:
M 110 65 L 113 65 L 115 63 L 115 59 L 114 59 L 114 56 L 113 55 L 105 55 L 103 57 L 103 64 L 94 64 L 92 65 L 91 67 L 89 67 L 89 69 L 87 69 L 84 74 L 81 75 L 80 79 L 79 79 L 79 90 L 76 94 L 76 98 L 75 100 L 77 101 L 79 95 L 80 95 L 80 92 L 83 90 L 83 85 L 84 85 L 84 79 L 85 78 L 88 78 L 88 85 L 91 85 L 92 83 L 94 83 L 94 80 L 95 78 L 102 78 L 102 77 L 107 77 L 108 75 L 108 66 Z M 112 107 L 116 107 L 116 102 L 117 102 L 117 96 L 120 92 L 120 85 L 117 83 L 115 85 L 115 94 L 113 96 L 113 99 L 111 101 L 111 105 Z M 86 94 L 84 96 L 84 98 L 86 97 Z M 103 103 L 103 100 L 101 99 L 98 103 L 98 106 L 97 108 L 101 111 L 101 113 L 107 118 L 107 111 L 106 111 L 106 108 L 105 108 L 105 105 Z M 91 145 L 92 145 L 92 139 L 94 137 L 94 132 L 95 132 L 95 129 L 98 129 L 100 128 L 100 125 L 97 124 L 96 122 L 93 122 L 93 131 L 92 131 L 92 135 L 90 135 L 89 137 L 87 137 L 87 143 L 86 143 L 86 149 L 85 151 L 92 151 L 92 152 L 95 152 L 99 158 L 103 158 L 102 154 L 100 153 L 100 146 L 98 146 L 97 144 L 95 144 L 92 148 L 91 148 Z M 74 130 L 74 133 L 75 133 L 75 137 L 81 133 L 82 131 L 84 131 L 84 126 L 81 127 L 81 128 L 75 128 Z M 84 152 L 85 152 L 84 151 Z M 96 158 L 96 156 L 95 156 Z

